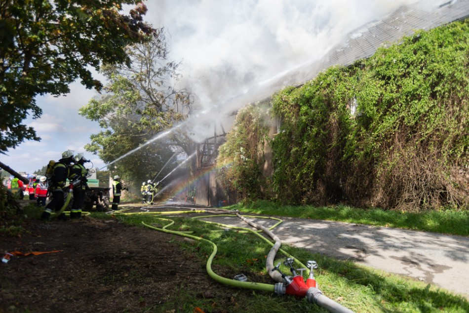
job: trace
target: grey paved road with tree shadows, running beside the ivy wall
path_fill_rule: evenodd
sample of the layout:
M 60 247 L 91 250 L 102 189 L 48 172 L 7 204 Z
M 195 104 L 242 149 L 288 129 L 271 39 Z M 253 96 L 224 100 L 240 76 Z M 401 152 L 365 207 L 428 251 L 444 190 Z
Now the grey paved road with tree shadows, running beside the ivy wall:
M 469 237 L 313 219 L 281 219 L 283 223 L 273 233 L 282 243 L 414 277 L 469 299 Z M 247 227 L 236 217 L 209 220 Z M 277 222 L 250 220 L 266 227 Z

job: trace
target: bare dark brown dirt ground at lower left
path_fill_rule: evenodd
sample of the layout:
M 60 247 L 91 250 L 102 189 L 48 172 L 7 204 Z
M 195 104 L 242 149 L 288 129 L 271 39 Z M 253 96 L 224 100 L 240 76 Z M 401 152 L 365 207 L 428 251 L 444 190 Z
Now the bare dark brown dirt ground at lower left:
M 181 288 L 221 299 L 205 312 L 230 312 L 233 294 L 244 292 L 212 280 L 176 242 L 184 237 L 91 217 L 33 220 L 25 228 L 21 237 L 0 236 L 1 251 L 60 252 L 0 263 L 0 313 L 188 312 L 181 303 L 165 305 Z

